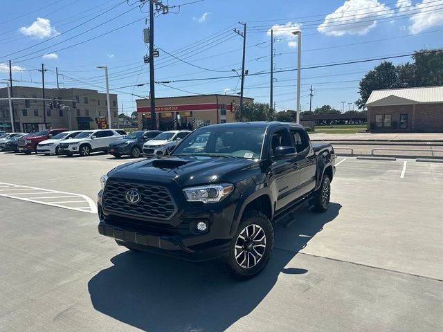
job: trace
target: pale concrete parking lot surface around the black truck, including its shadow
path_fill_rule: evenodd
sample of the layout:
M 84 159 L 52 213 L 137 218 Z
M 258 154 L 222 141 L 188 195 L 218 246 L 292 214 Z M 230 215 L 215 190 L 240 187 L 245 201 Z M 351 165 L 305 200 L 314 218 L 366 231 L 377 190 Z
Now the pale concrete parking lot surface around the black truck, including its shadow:
M 443 330 L 443 163 L 338 158 L 329 210 L 236 282 L 98 234 L 89 200 L 127 161 L 0 154 L 0 331 Z

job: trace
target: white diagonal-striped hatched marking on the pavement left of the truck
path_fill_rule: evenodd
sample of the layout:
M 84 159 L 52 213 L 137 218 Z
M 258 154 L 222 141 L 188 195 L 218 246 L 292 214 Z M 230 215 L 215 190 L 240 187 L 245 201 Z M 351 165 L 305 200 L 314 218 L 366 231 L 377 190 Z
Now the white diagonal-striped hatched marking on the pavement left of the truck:
M 58 190 L 43 189 L 37 187 L 29 187 L 27 185 L 15 185 L 12 183 L 1 183 L 0 187 L 5 188 L 0 190 L 0 196 L 8 197 L 10 199 L 18 199 L 19 201 L 28 201 L 32 203 L 38 203 L 43 205 L 54 206 L 56 208 L 63 208 L 67 210 L 75 210 L 87 213 L 97 213 L 96 203 L 86 195 L 73 194 L 71 192 L 59 192 Z M 33 190 L 33 192 L 27 192 L 27 190 Z M 55 196 L 35 196 L 40 194 L 53 194 Z M 73 199 L 72 201 L 42 201 L 44 199 Z M 81 200 L 80 200 L 81 199 Z M 72 206 L 65 205 L 71 203 L 85 203 L 87 206 L 79 208 L 73 208 Z

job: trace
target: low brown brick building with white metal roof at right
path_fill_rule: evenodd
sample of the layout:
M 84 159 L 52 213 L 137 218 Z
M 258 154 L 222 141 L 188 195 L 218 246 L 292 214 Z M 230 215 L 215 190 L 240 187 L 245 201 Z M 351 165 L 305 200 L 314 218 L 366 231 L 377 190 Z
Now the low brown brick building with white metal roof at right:
M 366 107 L 372 132 L 443 132 L 443 86 L 374 90 Z

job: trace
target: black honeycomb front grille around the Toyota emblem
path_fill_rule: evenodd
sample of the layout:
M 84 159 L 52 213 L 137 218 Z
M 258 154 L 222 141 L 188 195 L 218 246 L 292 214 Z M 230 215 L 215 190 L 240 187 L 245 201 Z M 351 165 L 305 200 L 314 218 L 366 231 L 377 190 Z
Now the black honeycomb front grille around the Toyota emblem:
M 141 199 L 138 203 L 129 203 L 125 199 L 128 190 L 135 189 Z M 134 215 L 143 219 L 169 220 L 177 212 L 170 192 L 158 185 L 123 183 L 109 181 L 103 193 L 103 210 Z

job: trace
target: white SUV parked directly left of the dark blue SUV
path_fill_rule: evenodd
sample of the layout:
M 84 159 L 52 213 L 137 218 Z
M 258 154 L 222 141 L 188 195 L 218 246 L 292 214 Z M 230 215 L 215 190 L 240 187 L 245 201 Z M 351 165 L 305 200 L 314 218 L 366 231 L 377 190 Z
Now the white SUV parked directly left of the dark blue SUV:
M 122 138 L 115 130 L 85 130 L 79 133 L 75 138 L 60 142 L 60 154 L 72 156 L 80 154 L 80 156 L 89 156 L 91 152 L 107 151 L 110 142 L 116 138 Z

